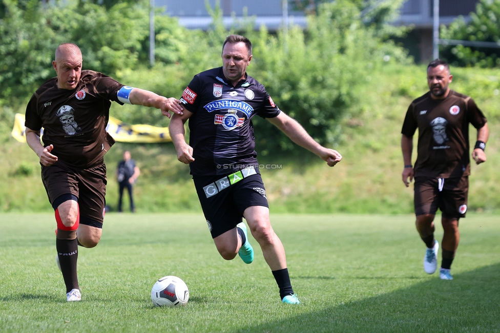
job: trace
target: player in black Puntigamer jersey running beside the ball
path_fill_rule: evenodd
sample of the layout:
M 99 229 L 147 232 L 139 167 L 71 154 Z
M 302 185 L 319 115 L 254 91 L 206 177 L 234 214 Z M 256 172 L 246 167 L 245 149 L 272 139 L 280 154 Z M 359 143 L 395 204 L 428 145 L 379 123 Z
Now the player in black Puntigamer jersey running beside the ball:
M 173 115 L 170 134 L 179 161 L 190 164 L 206 223 L 219 254 L 254 259 L 245 218 L 272 270 L 283 303 L 299 304 L 291 287 L 285 250 L 269 221 L 269 208 L 255 152 L 255 115 L 266 118 L 291 140 L 315 153 L 329 166 L 342 156 L 322 147 L 300 124 L 282 112 L 256 79 L 247 75 L 252 44 L 231 35 L 222 48 L 222 67 L 195 75 L 184 90 L 183 115 Z M 189 119 L 189 145 L 184 123 Z

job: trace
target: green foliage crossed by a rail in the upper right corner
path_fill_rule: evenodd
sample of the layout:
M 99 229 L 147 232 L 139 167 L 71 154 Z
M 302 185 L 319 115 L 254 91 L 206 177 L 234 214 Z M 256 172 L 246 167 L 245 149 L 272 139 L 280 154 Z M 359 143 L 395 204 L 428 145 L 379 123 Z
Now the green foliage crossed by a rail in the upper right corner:
M 500 2 L 481 0 L 476 11 L 470 13 L 469 22 L 464 17 L 457 18 L 448 28 L 441 28 L 441 37 L 500 43 Z M 441 54 L 454 66 L 500 67 L 500 48 L 447 46 L 442 47 Z

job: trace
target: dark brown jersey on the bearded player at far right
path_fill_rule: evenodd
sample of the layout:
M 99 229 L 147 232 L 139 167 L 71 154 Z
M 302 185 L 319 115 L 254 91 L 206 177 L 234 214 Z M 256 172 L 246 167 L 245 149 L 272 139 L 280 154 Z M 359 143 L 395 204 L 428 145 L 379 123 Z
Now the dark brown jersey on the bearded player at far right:
M 419 129 L 415 177 L 462 177 L 470 174 L 469 123 L 486 123 L 469 96 L 450 90 L 444 99 L 430 92 L 415 99 L 406 112 L 401 133 L 409 138 Z

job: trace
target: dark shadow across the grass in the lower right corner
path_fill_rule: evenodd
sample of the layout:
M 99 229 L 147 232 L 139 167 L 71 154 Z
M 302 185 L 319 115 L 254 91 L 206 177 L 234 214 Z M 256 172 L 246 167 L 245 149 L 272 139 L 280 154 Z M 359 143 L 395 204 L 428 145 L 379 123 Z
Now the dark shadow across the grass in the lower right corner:
M 441 280 L 436 273 L 434 279 L 409 288 L 239 331 L 498 332 L 498 276 L 500 263 L 456 274 L 452 281 Z

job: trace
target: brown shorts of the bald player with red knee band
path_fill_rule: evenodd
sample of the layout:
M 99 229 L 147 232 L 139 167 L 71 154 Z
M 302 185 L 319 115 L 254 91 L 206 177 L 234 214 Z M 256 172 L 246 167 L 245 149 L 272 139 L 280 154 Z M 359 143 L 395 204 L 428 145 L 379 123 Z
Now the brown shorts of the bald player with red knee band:
M 54 207 L 57 198 L 73 195 L 78 198 L 80 223 L 102 227 L 108 183 L 103 159 L 81 170 L 73 169 L 60 160 L 51 166 L 42 165 L 41 180 L 54 210 L 57 209 Z

